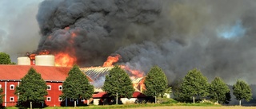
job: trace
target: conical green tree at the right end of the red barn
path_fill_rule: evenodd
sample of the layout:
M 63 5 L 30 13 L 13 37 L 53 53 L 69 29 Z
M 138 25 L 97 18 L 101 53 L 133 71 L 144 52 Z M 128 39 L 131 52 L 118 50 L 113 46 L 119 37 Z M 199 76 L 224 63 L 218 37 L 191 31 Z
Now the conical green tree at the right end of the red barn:
M 93 93 L 94 86 L 90 84 L 87 76 L 81 72 L 78 65 L 74 65 L 63 83 L 60 97 L 74 99 L 74 107 L 76 107 L 77 99 L 90 99 Z

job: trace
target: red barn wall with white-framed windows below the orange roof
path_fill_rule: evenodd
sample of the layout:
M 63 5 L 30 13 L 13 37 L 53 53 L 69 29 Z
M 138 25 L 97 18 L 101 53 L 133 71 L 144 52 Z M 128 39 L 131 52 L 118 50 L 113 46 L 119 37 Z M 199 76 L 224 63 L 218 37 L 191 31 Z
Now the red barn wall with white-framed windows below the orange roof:
M 0 87 L 2 88 L 4 94 L 3 96 L 3 107 L 14 107 L 18 103 L 18 96 L 14 95 L 15 89 L 20 84 L 17 80 L 0 80 Z M 60 107 L 60 106 L 72 106 L 74 105 L 74 100 L 67 99 L 62 101 L 59 95 L 62 94 L 62 82 L 51 82 L 47 81 L 46 85 L 50 88 L 47 88 L 48 95 L 46 95 L 45 105 L 48 107 Z M 80 99 L 81 100 L 81 99 Z M 86 99 L 78 100 L 78 104 L 86 105 L 88 102 Z M 45 107 L 46 107 L 45 106 Z

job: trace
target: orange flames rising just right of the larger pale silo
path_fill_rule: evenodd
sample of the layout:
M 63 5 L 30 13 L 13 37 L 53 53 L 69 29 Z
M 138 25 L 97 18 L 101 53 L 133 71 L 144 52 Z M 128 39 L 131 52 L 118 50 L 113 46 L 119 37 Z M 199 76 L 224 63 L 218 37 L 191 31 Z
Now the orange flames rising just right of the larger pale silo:
M 58 53 L 58 54 L 55 54 L 54 56 L 55 56 L 55 66 L 72 67 L 77 61 L 75 57 L 72 57 L 67 53 Z

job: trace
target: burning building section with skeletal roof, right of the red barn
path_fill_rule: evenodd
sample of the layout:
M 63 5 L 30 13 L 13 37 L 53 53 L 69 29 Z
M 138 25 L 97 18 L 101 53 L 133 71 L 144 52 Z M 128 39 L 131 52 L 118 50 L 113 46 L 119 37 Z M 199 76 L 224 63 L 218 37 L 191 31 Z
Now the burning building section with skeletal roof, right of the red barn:
M 114 67 L 92 67 L 92 68 L 80 68 L 80 70 L 84 73 L 86 73 L 87 76 L 90 77 L 90 79 L 93 80 L 92 84 L 94 85 L 94 105 L 104 105 L 104 104 L 111 104 L 115 103 L 113 98 L 107 95 L 106 92 L 102 91 L 102 86 L 105 81 L 105 76 L 109 73 L 111 68 Z M 128 75 L 130 75 L 129 71 L 126 71 Z M 134 86 L 134 94 L 132 95 L 132 98 L 120 98 L 118 103 L 135 103 L 146 99 L 146 95 L 142 94 L 142 90 L 144 90 L 145 86 L 143 84 L 145 77 L 139 77 L 131 79 L 132 84 Z

